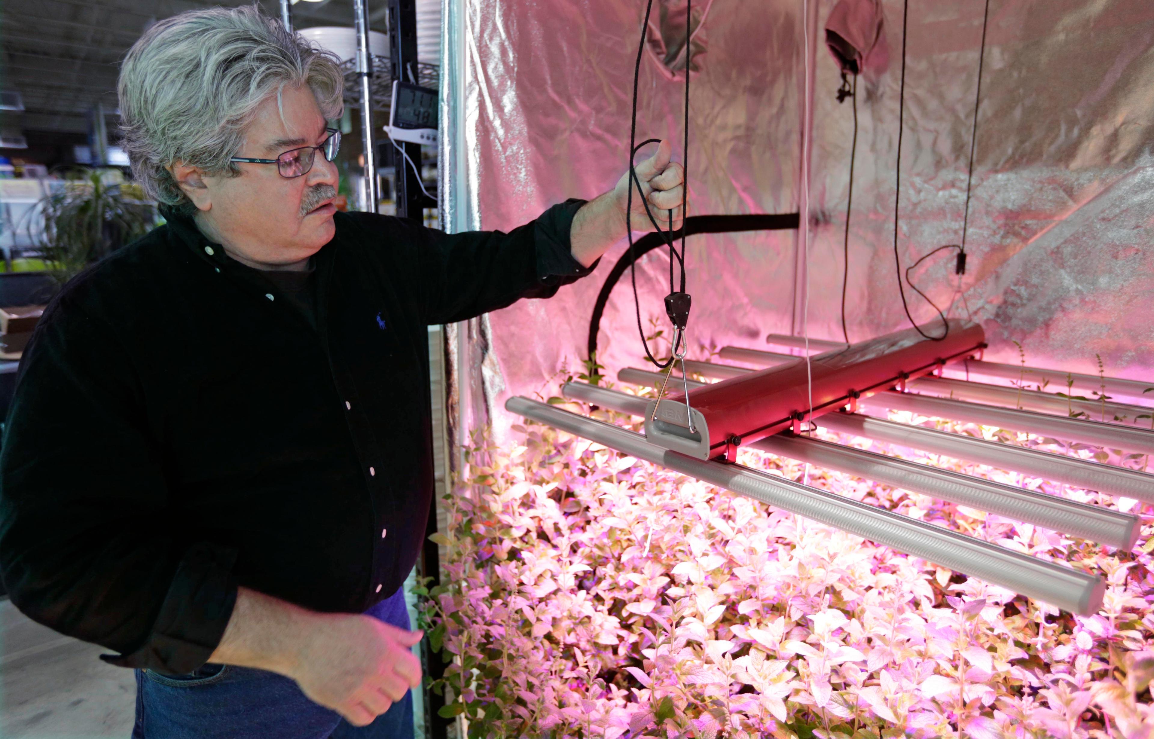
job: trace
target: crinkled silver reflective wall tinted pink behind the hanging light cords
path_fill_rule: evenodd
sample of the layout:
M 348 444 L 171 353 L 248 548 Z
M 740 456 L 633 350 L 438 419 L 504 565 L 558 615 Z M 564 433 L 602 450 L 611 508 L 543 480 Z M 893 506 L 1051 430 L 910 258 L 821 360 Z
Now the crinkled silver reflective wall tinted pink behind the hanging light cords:
M 661 5 L 664 0 L 655 0 Z M 665 0 L 670 12 L 684 0 Z M 695 2 L 704 7 L 709 0 Z M 839 338 L 852 102 L 824 46 L 833 0 L 809 3 L 814 128 L 808 267 L 792 231 L 689 239 L 691 358 L 763 348 L 766 333 Z M 893 255 L 902 3 L 884 3 L 889 70 L 859 83 L 846 315 L 860 341 L 907 326 Z M 962 237 L 983 0 L 913 2 L 901 157 L 902 268 Z M 450 227 L 507 230 L 565 197 L 593 197 L 625 171 L 643 0 L 447 0 L 443 143 Z M 655 13 L 657 10 L 654 10 Z M 801 201 L 805 32 L 802 0 L 714 0 L 695 43 L 690 215 L 789 212 Z M 816 22 L 815 22 L 816 21 Z M 912 275 L 951 315 L 972 312 L 989 358 L 1154 379 L 1154 3 L 991 0 L 969 208 L 968 274 L 956 294 L 943 252 Z M 682 82 L 642 59 L 638 140 L 681 157 Z M 579 370 L 590 312 L 612 264 L 548 301 L 489 316 L 485 388 L 552 393 Z M 638 268 L 642 319 L 666 320 L 668 261 Z M 936 314 L 916 293 L 919 322 Z M 666 331 L 668 335 L 668 331 Z M 601 322 L 610 373 L 643 366 L 632 297 L 619 284 Z M 499 415 L 500 416 L 500 415 Z M 497 421 L 501 426 L 508 420 Z

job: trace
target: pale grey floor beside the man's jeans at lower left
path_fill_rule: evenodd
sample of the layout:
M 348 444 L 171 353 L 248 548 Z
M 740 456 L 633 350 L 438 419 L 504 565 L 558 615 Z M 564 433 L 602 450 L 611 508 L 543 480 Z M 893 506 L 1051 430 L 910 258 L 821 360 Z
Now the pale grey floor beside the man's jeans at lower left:
M 110 650 L 61 636 L 0 602 L 0 737 L 128 739 L 136 680 Z

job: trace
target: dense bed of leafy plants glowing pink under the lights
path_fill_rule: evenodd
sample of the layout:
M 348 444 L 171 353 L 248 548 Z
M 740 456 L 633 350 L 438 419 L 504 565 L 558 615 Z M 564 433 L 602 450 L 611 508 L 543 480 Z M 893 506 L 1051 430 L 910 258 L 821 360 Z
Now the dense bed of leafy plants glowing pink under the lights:
M 437 535 L 447 584 L 428 600 L 434 644 L 454 659 L 442 714 L 463 714 L 471 737 L 1154 738 L 1154 506 L 827 436 L 1141 513 L 1134 551 L 1109 551 L 742 451 L 742 464 L 1100 573 L 1103 607 L 1082 618 L 545 426 L 514 430 L 523 445 L 469 450 Z

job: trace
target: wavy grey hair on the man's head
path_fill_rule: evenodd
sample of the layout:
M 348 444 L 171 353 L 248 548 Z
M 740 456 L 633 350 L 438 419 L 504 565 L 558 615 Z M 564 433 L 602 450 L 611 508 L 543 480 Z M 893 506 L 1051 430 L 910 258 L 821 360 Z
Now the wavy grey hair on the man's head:
M 301 84 L 322 115 L 340 117 L 336 55 L 255 6 L 189 10 L 156 23 L 128 51 L 117 85 L 133 174 L 157 202 L 193 212 L 168 166 L 183 162 L 235 177 L 240 169 L 228 158 L 245 143 L 257 106 Z

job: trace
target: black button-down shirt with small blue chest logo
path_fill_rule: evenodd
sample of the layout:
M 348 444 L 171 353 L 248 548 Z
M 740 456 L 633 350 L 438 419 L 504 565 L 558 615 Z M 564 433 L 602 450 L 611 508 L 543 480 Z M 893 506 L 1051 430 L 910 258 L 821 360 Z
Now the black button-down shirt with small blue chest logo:
M 0 453 L 13 603 L 112 664 L 180 674 L 238 584 L 325 612 L 395 592 L 433 491 L 426 327 L 587 274 L 582 202 L 508 234 L 338 212 L 315 327 L 166 212 L 72 281 L 24 353 Z

